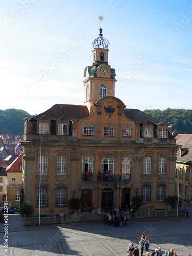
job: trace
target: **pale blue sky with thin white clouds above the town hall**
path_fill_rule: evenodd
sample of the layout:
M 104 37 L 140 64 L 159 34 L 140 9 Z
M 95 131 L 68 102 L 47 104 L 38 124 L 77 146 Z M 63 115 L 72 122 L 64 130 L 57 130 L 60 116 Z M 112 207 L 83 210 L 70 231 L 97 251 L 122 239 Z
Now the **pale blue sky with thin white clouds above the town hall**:
M 83 105 L 84 68 L 92 64 L 100 15 L 115 96 L 127 108 L 191 109 L 189 0 L 2 1 L 0 109 L 32 115 L 54 104 Z

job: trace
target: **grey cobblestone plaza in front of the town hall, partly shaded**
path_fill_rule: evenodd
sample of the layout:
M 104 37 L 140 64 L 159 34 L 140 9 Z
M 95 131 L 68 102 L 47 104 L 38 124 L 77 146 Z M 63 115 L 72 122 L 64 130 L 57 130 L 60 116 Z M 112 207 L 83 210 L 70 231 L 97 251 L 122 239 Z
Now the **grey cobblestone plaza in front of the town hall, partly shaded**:
M 131 241 L 138 245 L 145 232 L 151 242 L 150 255 L 161 246 L 163 252 L 173 248 L 178 256 L 188 256 L 192 252 L 191 223 L 190 217 L 165 217 L 129 220 L 122 228 L 101 222 L 23 227 L 19 215 L 13 214 L 9 215 L 7 251 L 6 224 L 1 223 L 0 255 L 124 256 Z

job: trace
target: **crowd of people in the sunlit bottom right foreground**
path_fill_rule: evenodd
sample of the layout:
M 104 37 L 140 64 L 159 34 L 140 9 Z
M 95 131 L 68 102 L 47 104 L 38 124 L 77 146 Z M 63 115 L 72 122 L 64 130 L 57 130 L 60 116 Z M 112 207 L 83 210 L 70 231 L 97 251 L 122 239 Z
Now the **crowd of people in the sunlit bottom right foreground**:
M 127 248 L 127 256 L 139 256 L 139 249 L 140 249 L 140 256 L 143 256 L 143 251 L 145 250 L 146 256 L 150 256 L 149 252 L 150 248 L 150 239 L 145 235 L 145 233 L 142 233 L 141 240 L 139 241 L 139 248 L 138 246 L 134 245 L 134 242 L 131 242 Z M 161 247 L 158 249 L 155 249 L 152 253 L 151 256 L 177 256 L 176 251 L 173 249 L 170 249 L 168 252 L 165 251 L 164 253 L 161 250 Z M 188 256 L 191 256 L 189 254 Z

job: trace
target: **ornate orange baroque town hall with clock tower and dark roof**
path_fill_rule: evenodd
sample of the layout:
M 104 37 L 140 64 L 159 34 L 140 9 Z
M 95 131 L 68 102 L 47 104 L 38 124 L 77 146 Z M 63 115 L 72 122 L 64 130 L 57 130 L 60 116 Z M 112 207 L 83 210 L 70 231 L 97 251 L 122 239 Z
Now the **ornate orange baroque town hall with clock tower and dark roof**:
M 73 197 L 82 198 L 84 212 L 118 209 L 136 195 L 143 209 L 167 209 L 175 193 L 172 128 L 115 97 L 109 41 L 99 32 L 84 70 L 84 105 L 63 102 L 24 118 L 24 202 L 34 216 L 39 201 L 43 216 L 67 213 Z

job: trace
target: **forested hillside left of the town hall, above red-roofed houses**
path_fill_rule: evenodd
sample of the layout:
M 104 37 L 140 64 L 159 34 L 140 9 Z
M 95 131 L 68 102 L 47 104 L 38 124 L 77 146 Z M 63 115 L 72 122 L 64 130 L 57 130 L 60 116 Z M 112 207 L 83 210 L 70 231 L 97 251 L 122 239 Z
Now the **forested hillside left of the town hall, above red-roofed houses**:
M 23 119 L 26 114 L 28 118 L 31 118 L 29 113 L 24 110 L 0 110 L 0 134 L 23 135 Z

